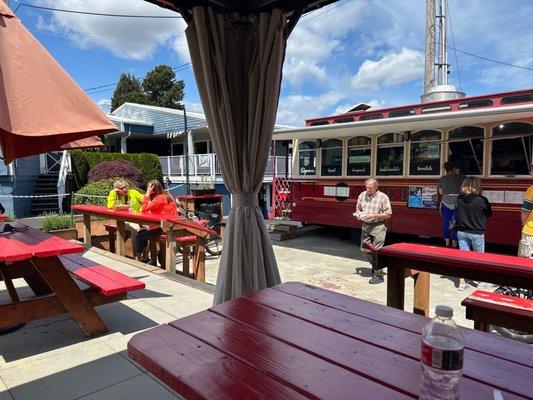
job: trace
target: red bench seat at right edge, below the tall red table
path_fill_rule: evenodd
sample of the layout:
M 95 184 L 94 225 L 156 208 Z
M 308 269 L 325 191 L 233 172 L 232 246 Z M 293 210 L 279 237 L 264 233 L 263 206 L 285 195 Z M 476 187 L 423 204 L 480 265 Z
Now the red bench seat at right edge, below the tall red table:
M 490 332 L 490 325 L 533 333 L 533 300 L 476 290 L 461 302 L 474 329 Z

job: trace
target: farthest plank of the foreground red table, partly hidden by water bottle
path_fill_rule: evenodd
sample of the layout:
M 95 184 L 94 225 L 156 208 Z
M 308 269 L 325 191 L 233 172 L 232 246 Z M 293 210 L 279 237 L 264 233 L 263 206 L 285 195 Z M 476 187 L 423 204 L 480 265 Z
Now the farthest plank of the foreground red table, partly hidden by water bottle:
M 312 285 L 305 285 L 303 283 L 288 282 L 277 285 L 272 289 L 414 333 L 422 332 L 422 328 L 428 322 L 427 318 L 421 315 L 406 313 L 403 310 L 364 301 L 342 293 Z M 467 348 L 525 366 L 531 366 L 533 364 L 532 349 L 527 344 L 510 341 L 497 335 L 480 334 L 481 332 L 476 332 L 468 328 L 461 327 L 461 329 Z

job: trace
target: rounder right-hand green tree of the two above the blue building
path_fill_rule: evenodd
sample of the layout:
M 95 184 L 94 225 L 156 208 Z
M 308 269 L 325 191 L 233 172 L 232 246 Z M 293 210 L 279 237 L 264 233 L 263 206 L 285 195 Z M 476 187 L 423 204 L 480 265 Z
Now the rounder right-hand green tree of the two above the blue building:
M 148 98 L 148 104 L 182 109 L 181 104 L 185 89 L 182 80 L 176 81 L 176 74 L 168 65 L 158 65 L 146 74 L 142 87 Z

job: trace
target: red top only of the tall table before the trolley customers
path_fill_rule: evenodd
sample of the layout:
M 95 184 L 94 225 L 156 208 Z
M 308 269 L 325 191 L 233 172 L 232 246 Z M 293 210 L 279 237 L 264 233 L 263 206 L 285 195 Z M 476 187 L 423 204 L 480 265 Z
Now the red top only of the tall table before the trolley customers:
M 510 275 L 533 276 L 533 260 L 503 254 L 462 251 L 416 243 L 395 243 L 379 249 L 378 255 L 417 261 L 438 261 L 443 265 L 461 265 L 473 269 L 486 269 L 489 265 L 491 269 L 505 271 Z

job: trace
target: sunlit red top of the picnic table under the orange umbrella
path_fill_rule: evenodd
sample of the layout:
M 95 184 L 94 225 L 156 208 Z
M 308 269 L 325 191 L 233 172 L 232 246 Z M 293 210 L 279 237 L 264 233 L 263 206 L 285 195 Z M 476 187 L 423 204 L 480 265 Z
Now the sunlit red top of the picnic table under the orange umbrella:
M 44 258 L 61 254 L 82 253 L 85 248 L 57 236 L 39 231 L 26 225 L 13 222 L 18 232 L 0 234 L 0 261 L 12 263 L 29 260 L 32 257 Z M 3 225 L 0 225 L 0 230 Z

